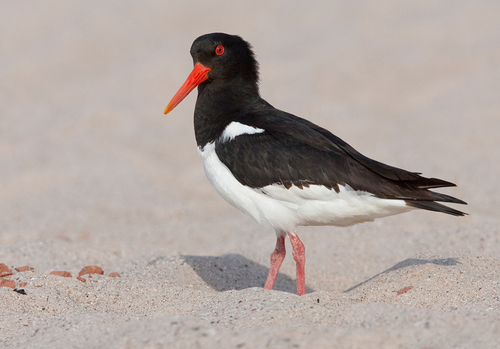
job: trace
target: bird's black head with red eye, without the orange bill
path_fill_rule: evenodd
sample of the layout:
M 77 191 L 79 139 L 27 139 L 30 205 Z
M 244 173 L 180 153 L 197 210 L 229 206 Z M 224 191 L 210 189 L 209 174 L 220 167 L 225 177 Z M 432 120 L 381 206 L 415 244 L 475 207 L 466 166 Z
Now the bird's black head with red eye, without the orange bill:
M 205 34 L 191 46 L 194 64 L 210 68 L 209 80 L 242 78 L 257 84 L 258 65 L 248 42 L 236 35 L 224 33 Z

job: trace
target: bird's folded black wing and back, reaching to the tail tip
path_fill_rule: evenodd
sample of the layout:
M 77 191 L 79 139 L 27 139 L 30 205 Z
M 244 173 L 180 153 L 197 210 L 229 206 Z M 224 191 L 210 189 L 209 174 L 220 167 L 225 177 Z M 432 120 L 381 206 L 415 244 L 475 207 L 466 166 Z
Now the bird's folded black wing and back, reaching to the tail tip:
M 347 184 L 380 198 L 402 199 L 411 206 L 463 215 L 434 201 L 465 204 L 464 201 L 428 190 L 454 186 L 453 183 L 369 159 L 305 119 L 267 105 L 238 121 L 265 130 L 216 143 L 218 157 L 244 185 L 302 188 L 317 184 L 338 191 L 339 185 Z

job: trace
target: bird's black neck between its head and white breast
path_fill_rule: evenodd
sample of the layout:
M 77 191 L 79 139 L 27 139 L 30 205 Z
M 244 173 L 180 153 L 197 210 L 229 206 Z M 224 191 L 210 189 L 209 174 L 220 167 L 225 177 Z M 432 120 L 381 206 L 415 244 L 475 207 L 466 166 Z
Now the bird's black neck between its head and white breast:
M 194 131 L 198 146 L 222 135 L 232 121 L 260 101 L 257 84 L 242 81 L 206 82 L 198 86 L 194 110 Z

